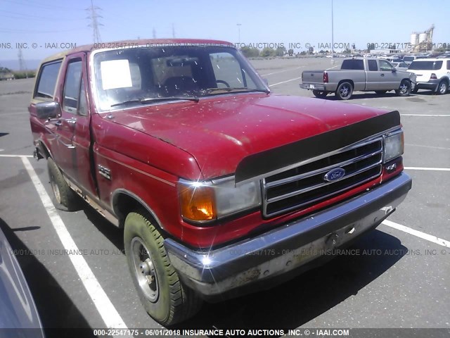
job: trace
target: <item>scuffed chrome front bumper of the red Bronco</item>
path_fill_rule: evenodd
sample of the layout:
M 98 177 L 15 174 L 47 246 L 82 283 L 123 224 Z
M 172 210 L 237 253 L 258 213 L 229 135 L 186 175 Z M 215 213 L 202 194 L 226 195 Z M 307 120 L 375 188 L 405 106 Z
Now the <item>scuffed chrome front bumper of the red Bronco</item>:
M 401 173 L 364 194 L 220 249 L 197 251 L 173 239 L 165 239 L 165 249 L 181 280 L 206 299 L 252 292 L 255 284 L 295 275 L 330 249 L 380 225 L 411 185 L 411 177 Z

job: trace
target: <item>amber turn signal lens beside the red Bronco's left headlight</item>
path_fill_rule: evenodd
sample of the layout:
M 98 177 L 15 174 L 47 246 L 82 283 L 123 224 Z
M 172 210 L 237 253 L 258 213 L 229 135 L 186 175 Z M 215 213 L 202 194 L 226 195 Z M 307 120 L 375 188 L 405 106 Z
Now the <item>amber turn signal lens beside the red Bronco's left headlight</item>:
M 181 215 L 187 220 L 205 221 L 217 218 L 214 188 L 205 185 L 179 184 Z

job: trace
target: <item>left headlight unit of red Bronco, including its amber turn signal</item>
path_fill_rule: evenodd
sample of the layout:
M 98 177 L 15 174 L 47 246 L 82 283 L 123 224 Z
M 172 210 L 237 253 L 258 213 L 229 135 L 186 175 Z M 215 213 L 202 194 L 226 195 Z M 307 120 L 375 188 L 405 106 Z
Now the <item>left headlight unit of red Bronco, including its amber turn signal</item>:
M 181 215 L 187 220 L 223 218 L 261 205 L 259 181 L 234 186 L 234 177 L 207 182 L 179 181 Z

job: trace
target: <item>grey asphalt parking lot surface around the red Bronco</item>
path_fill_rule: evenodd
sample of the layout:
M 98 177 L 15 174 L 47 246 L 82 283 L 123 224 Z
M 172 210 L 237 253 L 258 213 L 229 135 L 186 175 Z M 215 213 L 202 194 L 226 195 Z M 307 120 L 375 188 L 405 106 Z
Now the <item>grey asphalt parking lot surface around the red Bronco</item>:
M 275 94 L 311 98 L 299 88 L 302 70 L 333 66 L 327 58 L 252 64 Z M 33 151 L 27 113 L 33 84 L 34 79 L 0 82 L 0 227 L 24 270 L 44 327 L 105 327 L 25 168 L 31 163 L 51 196 L 46 161 L 24 157 Z M 322 101 L 326 109 L 335 97 Z M 356 92 L 346 104 L 401 113 L 404 165 L 413 189 L 390 222 L 354 244 L 365 254 L 340 256 L 266 292 L 205 304 L 181 327 L 450 328 L 450 94 Z M 87 205 L 58 215 L 77 248 L 89 252 L 84 259 L 123 323 L 160 327 L 134 290 L 121 230 Z

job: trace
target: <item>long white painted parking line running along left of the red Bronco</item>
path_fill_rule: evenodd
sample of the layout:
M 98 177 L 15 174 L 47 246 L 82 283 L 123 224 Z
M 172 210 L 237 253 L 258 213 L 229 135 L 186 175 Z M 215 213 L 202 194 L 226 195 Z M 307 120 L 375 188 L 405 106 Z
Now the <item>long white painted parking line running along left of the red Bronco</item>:
M 56 230 L 56 233 L 64 246 L 64 249 L 75 253 L 79 252 L 77 244 L 73 241 L 70 233 L 63 223 L 63 220 L 60 218 L 56 208 L 53 206 L 49 194 L 47 194 L 44 189 L 44 186 L 42 185 L 41 180 L 39 180 L 39 177 L 34 171 L 30 161 L 25 156 L 22 156 L 21 158 L 23 165 L 25 165 L 25 168 L 27 169 L 28 175 L 30 175 L 34 187 L 41 198 L 42 204 L 44 204 L 44 208 L 47 215 L 49 215 L 53 228 Z M 94 302 L 98 313 L 100 313 L 101 318 L 105 322 L 105 325 L 108 328 L 121 328 L 127 330 L 127 325 L 125 325 L 124 321 L 120 317 L 120 314 L 115 309 L 113 303 L 111 303 L 83 256 L 77 254 L 70 254 L 68 256 L 70 261 L 72 261 L 75 270 L 77 270 L 79 278 L 86 288 L 87 293 Z

